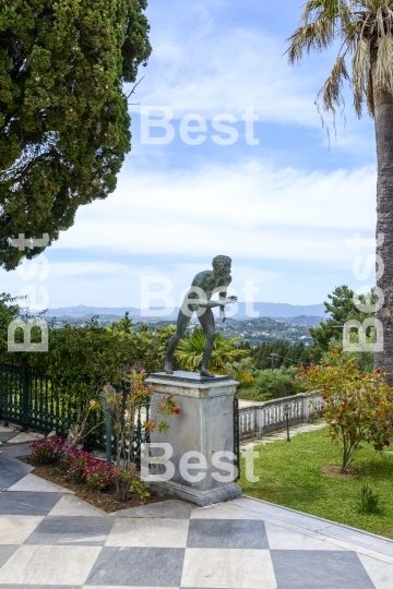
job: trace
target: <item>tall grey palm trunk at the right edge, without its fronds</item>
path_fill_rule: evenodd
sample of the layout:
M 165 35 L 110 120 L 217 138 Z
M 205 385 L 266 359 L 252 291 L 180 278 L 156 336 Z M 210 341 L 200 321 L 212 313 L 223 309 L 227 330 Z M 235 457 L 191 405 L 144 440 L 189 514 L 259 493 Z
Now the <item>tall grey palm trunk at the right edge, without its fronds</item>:
M 384 264 L 377 286 L 384 294 L 384 304 L 376 313 L 383 325 L 383 351 L 374 353 L 374 366 L 386 372 L 393 385 L 393 96 L 376 82 L 376 63 L 372 70 L 378 158 L 377 238 L 384 235 L 383 243 L 377 243 L 377 254 Z

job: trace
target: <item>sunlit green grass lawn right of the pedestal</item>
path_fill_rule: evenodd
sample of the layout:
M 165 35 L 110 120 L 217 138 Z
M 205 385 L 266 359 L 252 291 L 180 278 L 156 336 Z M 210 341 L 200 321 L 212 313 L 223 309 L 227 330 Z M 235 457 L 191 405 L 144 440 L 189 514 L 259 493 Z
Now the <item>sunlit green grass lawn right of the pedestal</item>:
M 366 444 L 353 464 L 358 476 L 334 479 L 321 471 L 325 465 L 340 465 L 341 458 L 325 430 L 297 435 L 290 444 L 275 442 L 254 450 L 259 452 L 254 474 L 260 480 L 246 480 L 242 459 L 239 484 L 246 495 L 393 538 L 393 454 L 381 455 Z M 356 498 L 364 483 L 379 495 L 380 514 L 357 513 Z

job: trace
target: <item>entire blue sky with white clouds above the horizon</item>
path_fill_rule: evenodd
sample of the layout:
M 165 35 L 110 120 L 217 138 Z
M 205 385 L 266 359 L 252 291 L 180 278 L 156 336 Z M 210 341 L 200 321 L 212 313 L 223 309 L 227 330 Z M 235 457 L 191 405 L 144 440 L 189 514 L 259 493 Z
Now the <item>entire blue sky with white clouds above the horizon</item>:
M 372 121 L 355 118 L 347 93 L 336 140 L 326 119 L 329 148 L 313 103 L 334 48 L 289 67 L 285 39 L 299 15 L 300 2 L 289 0 L 150 0 L 154 51 L 133 98 L 171 108 L 174 141 L 142 144 L 141 106 L 131 106 L 132 152 L 116 192 L 82 207 L 47 250 L 48 276 L 26 281 L 19 271 L 0 272 L 1 290 L 40 286 L 50 308 L 144 306 L 141 277 L 164 276 L 177 304 L 217 254 L 231 256 L 240 300 L 250 279 L 259 288 L 254 300 L 294 304 L 322 302 L 342 284 L 369 284 L 355 278 L 359 253 L 345 240 L 374 235 Z M 246 141 L 241 117 L 249 107 L 259 116 L 258 145 Z M 200 145 L 179 134 L 181 119 L 193 113 L 206 121 Z M 222 113 L 238 121 L 233 145 L 212 140 L 212 119 Z

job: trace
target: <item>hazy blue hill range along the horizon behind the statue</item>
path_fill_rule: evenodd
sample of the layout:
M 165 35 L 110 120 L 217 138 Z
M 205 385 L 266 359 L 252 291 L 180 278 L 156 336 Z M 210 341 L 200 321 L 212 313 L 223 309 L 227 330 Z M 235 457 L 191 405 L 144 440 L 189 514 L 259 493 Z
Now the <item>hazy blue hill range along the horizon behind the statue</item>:
M 246 312 L 246 303 L 239 302 L 239 309 L 234 318 L 247 320 L 249 315 Z M 271 303 L 271 302 L 255 302 L 253 303 L 253 311 L 259 312 L 260 317 L 299 317 L 299 316 L 312 316 L 312 317 L 326 317 L 324 313 L 323 304 L 288 304 L 288 303 Z M 151 311 L 159 310 L 157 306 L 153 306 Z M 126 312 L 129 312 L 130 317 L 134 321 L 141 318 L 158 318 L 146 314 L 146 310 L 136 309 L 134 306 L 86 306 L 79 304 L 78 306 L 61 306 L 59 309 L 49 309 L 46 316 L 48 317 L 86 317 L 92 315 L 114 315 L 121 317 Z M 170 315 L 159 317 L 160 320 L 171 320 L 177 316 L 178 309 L 175 309 Z

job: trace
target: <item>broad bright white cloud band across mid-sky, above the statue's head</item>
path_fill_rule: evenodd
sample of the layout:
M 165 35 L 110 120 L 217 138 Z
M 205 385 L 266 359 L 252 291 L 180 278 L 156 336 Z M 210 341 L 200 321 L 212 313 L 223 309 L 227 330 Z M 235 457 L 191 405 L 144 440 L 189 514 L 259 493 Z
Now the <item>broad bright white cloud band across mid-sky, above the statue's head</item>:
M 81 207 L 53 248 L 341 261 L 352 255 L 344 237 L 373 230 L 374 193 L 371 168 L 305 173 L 254 160 L 135 169 L 114 195 Z

